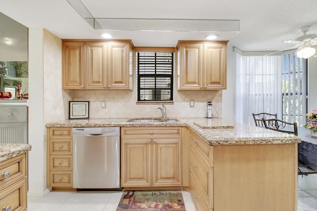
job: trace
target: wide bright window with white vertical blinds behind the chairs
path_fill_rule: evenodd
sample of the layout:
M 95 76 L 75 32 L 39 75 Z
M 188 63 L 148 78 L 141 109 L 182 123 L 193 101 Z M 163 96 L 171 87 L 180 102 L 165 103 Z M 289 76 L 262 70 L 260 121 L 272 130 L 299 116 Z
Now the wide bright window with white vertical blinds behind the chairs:
M 254 124 L 252 113 L 305 124 L 307 60 L 296 55 L 242 56 L 235 52 L 235 120 Z

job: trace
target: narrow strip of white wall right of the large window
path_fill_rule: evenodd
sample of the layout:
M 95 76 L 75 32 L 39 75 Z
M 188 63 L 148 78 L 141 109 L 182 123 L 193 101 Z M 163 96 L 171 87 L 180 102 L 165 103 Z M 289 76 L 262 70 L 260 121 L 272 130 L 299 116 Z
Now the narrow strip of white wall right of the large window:
M 308 112 L 317 109 L 317 57 L 308 59 Z

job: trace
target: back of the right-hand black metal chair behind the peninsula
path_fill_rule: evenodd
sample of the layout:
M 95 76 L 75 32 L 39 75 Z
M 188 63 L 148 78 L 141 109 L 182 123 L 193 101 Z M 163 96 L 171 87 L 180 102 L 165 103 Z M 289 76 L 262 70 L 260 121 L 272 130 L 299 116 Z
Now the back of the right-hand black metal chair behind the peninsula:
M 279 132 L 287 132 L 297 135 L 297 123 L 288 123 L 278 119 L 262 120 L 266 129 L 271 129 Z

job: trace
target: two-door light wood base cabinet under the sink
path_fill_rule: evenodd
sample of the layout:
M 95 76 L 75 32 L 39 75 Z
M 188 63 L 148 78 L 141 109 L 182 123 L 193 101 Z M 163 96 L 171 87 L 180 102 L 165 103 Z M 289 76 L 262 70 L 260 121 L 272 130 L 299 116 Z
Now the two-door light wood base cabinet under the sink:
M 181 128 L 122 127 L 121 186 L 182 186 Z

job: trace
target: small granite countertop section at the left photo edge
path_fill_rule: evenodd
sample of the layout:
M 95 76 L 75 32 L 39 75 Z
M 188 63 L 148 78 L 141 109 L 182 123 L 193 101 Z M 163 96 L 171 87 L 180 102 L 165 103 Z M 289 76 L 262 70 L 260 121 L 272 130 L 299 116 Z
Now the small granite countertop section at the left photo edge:
M 31 150 L 30 144 L 0 144 L 0 162 Z

